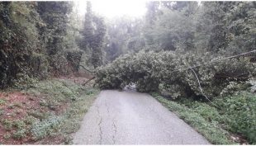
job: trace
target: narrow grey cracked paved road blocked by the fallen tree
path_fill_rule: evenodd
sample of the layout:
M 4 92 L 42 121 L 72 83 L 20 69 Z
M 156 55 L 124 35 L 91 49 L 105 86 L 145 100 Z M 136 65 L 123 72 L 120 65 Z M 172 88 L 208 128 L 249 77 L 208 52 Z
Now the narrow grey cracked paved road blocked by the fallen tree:
M 102 91 L 85 115 L 73 144 L 209 144 L 153 97 Z

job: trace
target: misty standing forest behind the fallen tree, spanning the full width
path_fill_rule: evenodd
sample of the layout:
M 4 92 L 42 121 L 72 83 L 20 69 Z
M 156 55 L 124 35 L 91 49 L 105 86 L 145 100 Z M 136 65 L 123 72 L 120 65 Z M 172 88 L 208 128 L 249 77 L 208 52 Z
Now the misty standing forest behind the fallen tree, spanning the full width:
M 92 72 L 130 52 L 178 55 L 168 57 L 172 71 L 255 46 L 254 2 L 147 2 L 145 16 L 113 19 L 92 12 L 91 2 L 84 7 L 84 17 L 73 2 L 1 2 L 0 6 L 2 89 L 79 68 Z M 245 57 L 254 62 L 253 53 Z M 232 60 L 234 65 L 218 63 L 215 71 L 223 76 L 249 73 L 254 64 L 243 59 Z

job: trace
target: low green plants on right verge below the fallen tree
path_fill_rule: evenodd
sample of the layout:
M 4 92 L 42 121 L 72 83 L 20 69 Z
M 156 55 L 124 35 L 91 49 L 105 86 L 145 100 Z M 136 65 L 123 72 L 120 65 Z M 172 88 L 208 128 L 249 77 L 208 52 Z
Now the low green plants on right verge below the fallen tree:
M 219 107 L 191 99 L 170 101 L 156 92 L 150 95 L 211 144 L 255 144 L 255 97 L 250 93 L 242 92 L 224 100 L 216 99 L 214 103 Z M 242 108 L 239 104 L 243 104 Z

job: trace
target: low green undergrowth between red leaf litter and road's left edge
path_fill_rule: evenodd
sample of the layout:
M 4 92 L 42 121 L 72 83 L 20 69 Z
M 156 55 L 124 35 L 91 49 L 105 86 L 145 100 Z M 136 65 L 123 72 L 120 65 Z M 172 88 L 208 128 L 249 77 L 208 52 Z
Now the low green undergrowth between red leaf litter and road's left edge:
M 59 105 L 66 103 L 67 108 L 61 114 L 51 113 L 43 120 L 36 120 L 31 126 L 32 139 L 43 139 L 45 136 L 63 135 L 61 144 L 70 144 L 70 134 L 79 129 L 83 115 L 97 97 L 97 88 L 78 85 L 66 80 L 40 82 L 31 92 L 47 95 L 47 100 L 41 99 L 41 106 L 48 106 L 56 111 Z M 44 140 L 40 144 L 45 144 Z

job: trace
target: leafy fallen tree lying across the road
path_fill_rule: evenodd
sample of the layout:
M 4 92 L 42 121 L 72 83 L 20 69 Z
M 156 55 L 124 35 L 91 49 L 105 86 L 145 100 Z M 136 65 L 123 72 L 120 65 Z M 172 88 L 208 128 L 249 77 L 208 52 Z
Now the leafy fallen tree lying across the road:
M 137 91 L 160 91 L 178 99 L 181 97 L 203 97 L 197 78 L 191 69 L 177 71 L 180 68 L 206 64 L 223 59 L 225 53 L 215 57 L 211 53 L 201 52 L 139 52 L 129 53 L 117 58 L 106 67 L 97 68 L 96 82 L 101 89 L 123 88 L 129 82 L 135 82 Z M 226 59 L 218 64 L 202 65 L 193 68 L 201 82 L 203 92 L 209 98 L 225 96 L 246 87 L 243 78 L 217 78 L 216 73 L 250 73 L 254 75 L 255 64 L 249 64 L 248 57 Z M 173 72 L 173 70 L 177 72 Z M 238 82 L 239 81 L 239 82 Z M 234 83 L 235 82 L 235 83 Z

